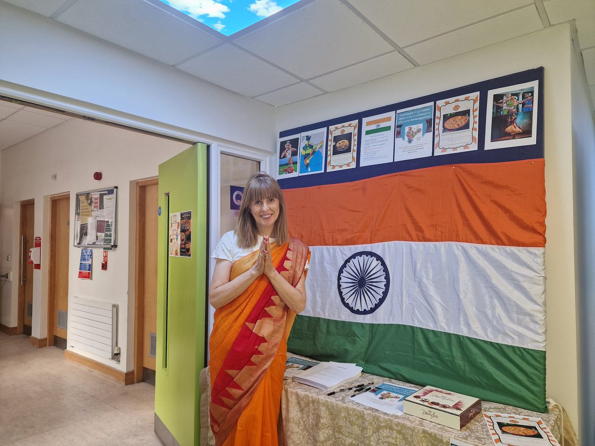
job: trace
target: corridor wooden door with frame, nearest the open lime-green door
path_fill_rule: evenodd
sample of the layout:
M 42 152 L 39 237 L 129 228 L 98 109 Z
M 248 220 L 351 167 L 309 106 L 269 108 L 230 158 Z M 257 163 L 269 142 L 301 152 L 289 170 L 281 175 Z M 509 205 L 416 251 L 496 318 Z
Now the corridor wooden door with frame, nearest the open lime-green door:
M 136 189 L 136 293 L 134 379 L 154 375 L 157 332 L 158 180 L 140 181 Z M 144 370 L 144 373 L 143 373 Z M 154 381 L 150 379 L 150 381 Z

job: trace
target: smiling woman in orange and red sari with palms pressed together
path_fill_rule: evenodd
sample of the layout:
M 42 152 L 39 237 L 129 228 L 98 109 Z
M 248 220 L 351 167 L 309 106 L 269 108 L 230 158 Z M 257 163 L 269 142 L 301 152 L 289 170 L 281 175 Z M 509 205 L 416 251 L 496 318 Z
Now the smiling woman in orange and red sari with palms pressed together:
M 287 335 L 306 305 L 309 249 L 289 237 L 281 189 L 252 175 L 223 235 L 209 290 L 211 428 L 220 445 L 277 445 Z

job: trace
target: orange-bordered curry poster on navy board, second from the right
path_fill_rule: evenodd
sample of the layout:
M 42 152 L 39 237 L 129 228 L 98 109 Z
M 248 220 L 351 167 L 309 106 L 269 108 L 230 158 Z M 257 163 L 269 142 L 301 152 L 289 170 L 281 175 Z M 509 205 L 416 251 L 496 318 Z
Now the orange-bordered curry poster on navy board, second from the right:
M 436 101 L 434 155 L 477 150 L 480 93 Z

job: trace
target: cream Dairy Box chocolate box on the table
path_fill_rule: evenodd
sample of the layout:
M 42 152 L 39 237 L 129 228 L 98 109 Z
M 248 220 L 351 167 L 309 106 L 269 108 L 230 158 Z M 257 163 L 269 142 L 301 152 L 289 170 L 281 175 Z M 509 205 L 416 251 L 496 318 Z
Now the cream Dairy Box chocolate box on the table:
M 426 386 L 403 400 L 403 412 L 460 431 L 481 412 L 481 400 Z

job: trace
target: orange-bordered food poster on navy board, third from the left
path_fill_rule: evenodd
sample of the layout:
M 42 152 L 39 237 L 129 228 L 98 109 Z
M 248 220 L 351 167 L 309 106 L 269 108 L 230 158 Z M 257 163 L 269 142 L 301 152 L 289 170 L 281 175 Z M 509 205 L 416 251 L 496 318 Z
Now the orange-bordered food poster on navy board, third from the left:
M 327 172 L 355 167 L 358 120 L 328 128 Z

